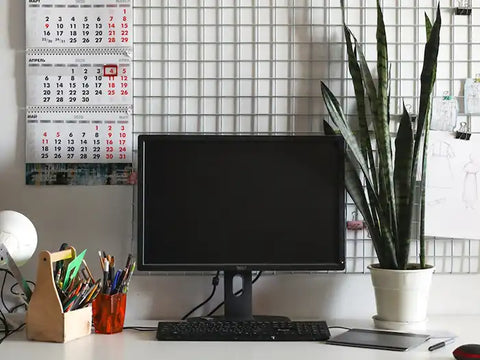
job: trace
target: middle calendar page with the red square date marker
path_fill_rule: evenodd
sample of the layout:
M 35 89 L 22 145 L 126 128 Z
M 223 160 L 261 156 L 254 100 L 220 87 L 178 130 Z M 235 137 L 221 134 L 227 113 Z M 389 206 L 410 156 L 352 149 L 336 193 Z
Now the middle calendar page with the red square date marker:
M 27 104 L 130 105 L 131 54 L 125 49 L 27 51 Z

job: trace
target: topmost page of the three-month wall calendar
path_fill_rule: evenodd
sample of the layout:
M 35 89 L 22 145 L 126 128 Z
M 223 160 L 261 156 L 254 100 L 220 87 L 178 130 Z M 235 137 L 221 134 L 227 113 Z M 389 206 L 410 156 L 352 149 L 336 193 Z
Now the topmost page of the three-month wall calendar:
M 26 15 L 28 48 L 132 44 L 131 0 L 29 0 Z

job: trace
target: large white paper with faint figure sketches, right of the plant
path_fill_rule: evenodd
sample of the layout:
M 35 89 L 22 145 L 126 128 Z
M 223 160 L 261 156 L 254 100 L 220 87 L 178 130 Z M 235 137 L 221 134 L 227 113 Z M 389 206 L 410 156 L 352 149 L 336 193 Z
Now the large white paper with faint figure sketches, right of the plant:
M 431 131 L 426 177 L 425 234 L 480 239 L 480 137 L 459 140 Z

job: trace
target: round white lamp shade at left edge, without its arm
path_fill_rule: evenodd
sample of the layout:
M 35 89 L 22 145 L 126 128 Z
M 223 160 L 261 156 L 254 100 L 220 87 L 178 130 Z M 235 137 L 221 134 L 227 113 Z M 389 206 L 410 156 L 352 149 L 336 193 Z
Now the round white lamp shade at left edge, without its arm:
M 37 231 L 23 214 L 12 210 L 0 211 L 0 245 L 4 245 L 15 264 L 25 264 L 37 247 Z M 6 259 L 0 258 L 0 265 Z

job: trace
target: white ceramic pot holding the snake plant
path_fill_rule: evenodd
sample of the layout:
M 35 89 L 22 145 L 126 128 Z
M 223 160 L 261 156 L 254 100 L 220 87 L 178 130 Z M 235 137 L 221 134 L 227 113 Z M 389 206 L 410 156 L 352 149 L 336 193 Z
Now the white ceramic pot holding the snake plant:
M 434 267 L 390 270 L 370 265 L 368 268 L 377 305 L 375 326 L 390 330 L 424 328 Z

